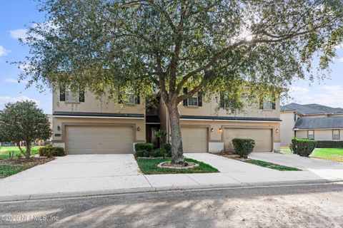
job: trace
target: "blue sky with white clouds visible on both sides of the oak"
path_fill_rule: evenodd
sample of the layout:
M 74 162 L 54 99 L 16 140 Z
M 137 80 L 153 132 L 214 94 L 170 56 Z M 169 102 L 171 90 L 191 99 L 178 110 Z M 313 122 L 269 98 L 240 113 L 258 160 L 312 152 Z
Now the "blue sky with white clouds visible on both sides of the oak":
M 8 62 L 23 61 L 28 48 L 19 44 L 18 38 L 24 37 L 25 29 L 34 22 L 44 21 L 44 14 L 39 13 L 36 1 L 0 0 L 0 110 L 4 104 L 16 100 L 35 100 L 45 113 L 51 113 L 51 93 L 44 93 L 32 88 L 25 88 L 25 83 L 18 83 L 20 69 Z M 292 98 L 289 102 L 319 103 L 343 108 L 343 44 L 337 49 L 337 59 L 331 66 L 331 79 L 315 81 L 295 81 L 292 85 Z

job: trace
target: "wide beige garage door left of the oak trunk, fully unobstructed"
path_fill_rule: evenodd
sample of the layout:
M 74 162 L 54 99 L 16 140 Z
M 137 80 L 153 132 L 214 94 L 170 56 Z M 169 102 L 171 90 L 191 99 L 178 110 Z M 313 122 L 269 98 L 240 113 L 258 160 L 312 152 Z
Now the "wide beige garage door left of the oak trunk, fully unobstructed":
M 132 127 L 66 126 L 66 152 L 116 154 L 133 151 Z

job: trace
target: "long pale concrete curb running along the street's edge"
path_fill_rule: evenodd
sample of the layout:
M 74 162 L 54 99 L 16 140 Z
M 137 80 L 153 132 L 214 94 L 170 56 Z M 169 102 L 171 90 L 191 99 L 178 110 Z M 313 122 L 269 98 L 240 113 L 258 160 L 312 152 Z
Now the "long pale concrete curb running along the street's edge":
M 257 187 L 287 187 L 290 185 L 320 185 L 332 184 L 334 182 L 343 182 L 343 180 L 297 180 L 282 182 L 257 182 L 242 184 L 223 184 L 223 185 L 189 185 L 189 186 L 169 186 L 169 187 L 139 187 L 119 190 L 99 190 L 88 192 L 56 192 L 51 194 L 36 195 L 14 195 L 0 197 L 0 203 L 19 202 L 39 199 L 66 199 L 74 197 L 106 197 L 109 195 L 123 195 L 135 193 L 152 192 L 173 192 L 173 191 L 196 191 L 196 190 L 220 190 L 220 189 L 239 189 L 239 188 L 257 188 Z

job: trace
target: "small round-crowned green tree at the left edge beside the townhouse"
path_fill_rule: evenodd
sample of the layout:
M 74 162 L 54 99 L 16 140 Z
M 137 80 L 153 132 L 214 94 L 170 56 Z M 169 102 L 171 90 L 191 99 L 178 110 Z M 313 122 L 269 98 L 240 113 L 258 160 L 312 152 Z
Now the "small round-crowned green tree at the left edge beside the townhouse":
M 48 117 L 36 103 L 26 100 L 8 103 L 0 115 L 0 140 L 16 142 L 21 153 L 29 159 L 31 143 L 51 136 Z M 26 150 L 20 143 L 25 141 Z

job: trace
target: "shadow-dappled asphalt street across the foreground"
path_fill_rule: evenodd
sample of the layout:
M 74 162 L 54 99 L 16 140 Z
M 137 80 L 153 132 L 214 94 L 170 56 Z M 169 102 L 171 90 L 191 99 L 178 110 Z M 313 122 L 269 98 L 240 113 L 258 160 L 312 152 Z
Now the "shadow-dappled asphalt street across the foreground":
M 343 182 L 0 203 L 0 227 L 343 227 Z

